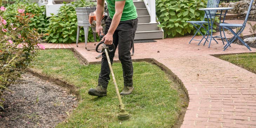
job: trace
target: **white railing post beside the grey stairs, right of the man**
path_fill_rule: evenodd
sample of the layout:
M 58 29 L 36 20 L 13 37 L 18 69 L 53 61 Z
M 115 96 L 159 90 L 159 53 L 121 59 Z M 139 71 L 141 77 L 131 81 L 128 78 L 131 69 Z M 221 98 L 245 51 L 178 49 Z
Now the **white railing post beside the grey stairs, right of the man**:
M 156 23 L 156 1 L 155 0 L 143 0 L 150 15 L 150 23 Z

